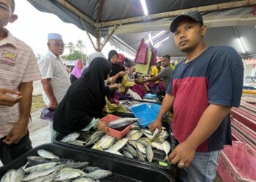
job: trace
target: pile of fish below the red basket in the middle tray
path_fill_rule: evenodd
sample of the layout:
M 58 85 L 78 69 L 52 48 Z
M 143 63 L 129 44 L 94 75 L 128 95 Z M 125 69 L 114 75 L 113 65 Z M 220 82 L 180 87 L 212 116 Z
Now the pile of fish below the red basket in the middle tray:
M 166 141 L 168 136 L 165 127 L 162 127 L 162 132 L 156 129 L 152 133 L 150 130 L 140 128 L 138 122 L 136 122 L 132 124 L 127 135 L 120 140 L 105 134 L 105 132 L 96 131 L 86 141 L 80 138 L 78 132 L 74 132 L 63 138 L 61 142 L 91 147 L 91 149 L 110 152 L 126 158 L 137 158 L 140 161 L 152 162 L 154 159 L 153 149 L 164 151 L 165 157 L 160 160 L 167 160 L 167 155 L 170 152 L 170 143 Z

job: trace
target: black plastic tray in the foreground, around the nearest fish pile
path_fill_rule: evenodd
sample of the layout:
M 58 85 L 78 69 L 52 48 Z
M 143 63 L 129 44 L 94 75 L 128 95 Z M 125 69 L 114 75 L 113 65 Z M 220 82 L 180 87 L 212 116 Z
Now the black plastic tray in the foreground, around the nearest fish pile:
M 23 156 L 15 159 L 9 165 L 5 165 L 0 169 L 0 178 L 8 170 L 22 167 L 26 164 L 26 157 L 37 155 L 37 150 L 45 149 L 53 152 L 61 158 L 74 159 L 75 161 L 88 161 L 91 166 L 101 167 L 105 170 L 111 170 L 113 175 L 101 181 L 174 181 L 173 178 L 165 171 L 157 168 L 140 165 L 135 162 L 127 162 L 116 157 L 105 156 L 91 151 L 81 151 L 78 149 L 69 149 L 64 146 L 56 146 L 54 144 L 45 144 L 28 151 Z

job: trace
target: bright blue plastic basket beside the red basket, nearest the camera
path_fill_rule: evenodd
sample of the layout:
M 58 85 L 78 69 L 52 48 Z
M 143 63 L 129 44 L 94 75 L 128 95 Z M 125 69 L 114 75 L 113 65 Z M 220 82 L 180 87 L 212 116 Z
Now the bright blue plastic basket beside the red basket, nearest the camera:
M 135 117 L 139 118 L 138 122 L 141 127 L 147 127 L 157 118 L 157 115 L 154 114 L 154 111 L 146 103 L 132 107 L 132 113 Z

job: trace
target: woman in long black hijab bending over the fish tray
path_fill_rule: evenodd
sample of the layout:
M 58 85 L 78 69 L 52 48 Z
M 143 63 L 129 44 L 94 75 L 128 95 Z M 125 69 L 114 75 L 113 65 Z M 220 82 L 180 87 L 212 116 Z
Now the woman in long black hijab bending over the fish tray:
M 98 118 L 105 103 L 105 83 L 111 64 L 105 58 L 94 58 L 86 74 L 67 90 L 53 114 L 53 130 L 67 135 L 82 130 Z M 105 123 L 98 122 L 98 129 L 105 130 Z

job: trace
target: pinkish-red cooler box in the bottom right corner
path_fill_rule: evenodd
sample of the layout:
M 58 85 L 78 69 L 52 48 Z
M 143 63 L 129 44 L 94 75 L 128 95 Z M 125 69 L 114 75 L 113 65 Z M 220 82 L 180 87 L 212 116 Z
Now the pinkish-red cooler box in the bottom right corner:
M 225 146 L 220 154 L 217 171 L 223 182 L 256 181 L 256 150 L 233 141 L 233 146 Z

